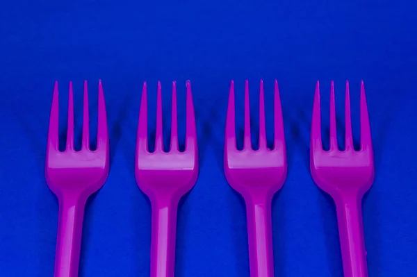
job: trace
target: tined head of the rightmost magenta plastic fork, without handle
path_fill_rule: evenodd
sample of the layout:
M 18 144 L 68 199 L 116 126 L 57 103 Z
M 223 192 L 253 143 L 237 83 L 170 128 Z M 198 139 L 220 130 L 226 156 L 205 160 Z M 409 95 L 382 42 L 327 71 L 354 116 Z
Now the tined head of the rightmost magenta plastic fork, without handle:
M 347 192 L 363 195 L 370 189 L 375 176 L 373 146 L 363 81 L 361 82 L 360 96 L 361 148 L 359 151 L 355 151 L 353 146 L 348 82 L 346 82 L 345 91 L 345 149 L 343 151 L 338 150 L 334 98 L 334 83 L 332 82 L 330 91 L 330 147 L 328 151 L 325 151 L 322 148 L 320 89 L 317 82 L 313 103 L 313 118 L 311 120 L 311 175 L 315 183 L 332 196 L 340 196 L 339 194 Z

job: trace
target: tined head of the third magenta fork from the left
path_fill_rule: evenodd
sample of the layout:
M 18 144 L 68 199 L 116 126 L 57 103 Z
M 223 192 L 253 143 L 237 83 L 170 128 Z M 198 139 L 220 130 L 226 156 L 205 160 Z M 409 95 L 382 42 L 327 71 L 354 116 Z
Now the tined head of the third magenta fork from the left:
M 227 182 L 244 198 L 254 194 L 272 196 L 286 179 L 287 161 L 284 123 L 278 82 L 274 92 L 274 149 L 268 149 L 265 133 L 265 103 L 263 81 L 259 99 L 259 149 L 252 149 L 250 135 L 249 83 L 245 83 L 245 131 L 243 149 L 236 147 L 234 81 L 231 81 L 224 140 L 224 174 Z

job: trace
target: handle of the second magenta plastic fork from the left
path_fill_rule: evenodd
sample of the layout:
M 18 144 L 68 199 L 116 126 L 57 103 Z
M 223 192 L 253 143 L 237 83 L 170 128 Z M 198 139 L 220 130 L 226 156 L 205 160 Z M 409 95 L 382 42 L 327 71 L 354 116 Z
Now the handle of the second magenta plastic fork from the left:
M 153 201 L 151 277 L 174 277 L 178 202 Z

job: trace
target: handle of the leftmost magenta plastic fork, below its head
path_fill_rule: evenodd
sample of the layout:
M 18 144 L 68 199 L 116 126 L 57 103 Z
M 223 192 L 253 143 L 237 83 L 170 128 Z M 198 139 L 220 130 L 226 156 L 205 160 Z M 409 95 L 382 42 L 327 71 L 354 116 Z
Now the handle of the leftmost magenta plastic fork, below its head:
M 85 201 L 81 197 L 59 200 L 58 237 L 54 277 L 77 277 Z

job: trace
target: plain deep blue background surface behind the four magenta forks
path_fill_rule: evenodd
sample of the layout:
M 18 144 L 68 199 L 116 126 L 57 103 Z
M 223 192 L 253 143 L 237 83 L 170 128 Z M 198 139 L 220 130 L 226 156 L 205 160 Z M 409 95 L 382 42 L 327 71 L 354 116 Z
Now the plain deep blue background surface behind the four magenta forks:
M 343 147 L 349 80 L 359 140 L 363 79 L 376 164 L 375 183 L 363 199 L 369 274 L 417 276 L 416 8 L 415 1 L 3 1 L 0 276 L 53 276 L 58 201 L 44 181 L 44 158 L 54 81 L 63 131 L 68 82 L 74 81 L 81 135 L 83 80 L 89 81 L 95 133 L 99 78 L 111 171 L 86 207 L 80 276 L 149 276 L 150 207 L 133 174 L 141 86 L 148 82 L 154 128 L 156 82 L 162 81 L 167 141 L 171 82 L 178 82 L 183 142 L 188 79 L 200 171 L 179 206 L 176 276 L 249 276 L 245 206 L 222 169 L 232 78 L 238 126 L 245 78 L 250 81 L 254 137 L 259 81 L 265 81 L 269 140 L 272 88 L 279 80 L 289 171 L 272 205 L 275 275 L 342 276 L 334 203 L 309 172 L 311 108 L 320 80 L 328 126 L 334 80 Z

